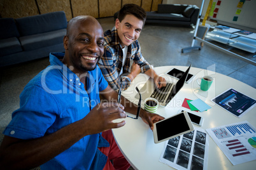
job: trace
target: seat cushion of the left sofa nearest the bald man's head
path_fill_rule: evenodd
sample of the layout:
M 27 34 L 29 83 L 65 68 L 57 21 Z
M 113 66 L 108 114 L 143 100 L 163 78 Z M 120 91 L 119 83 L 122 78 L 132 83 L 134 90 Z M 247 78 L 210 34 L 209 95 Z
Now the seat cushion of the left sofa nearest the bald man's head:
M 33 49 L 60 44 L 63 42 L 65 35 L 66 29 L 53 30 L 51 32 L 20 37 L 20 43 L 24 51 L 30 51 Z

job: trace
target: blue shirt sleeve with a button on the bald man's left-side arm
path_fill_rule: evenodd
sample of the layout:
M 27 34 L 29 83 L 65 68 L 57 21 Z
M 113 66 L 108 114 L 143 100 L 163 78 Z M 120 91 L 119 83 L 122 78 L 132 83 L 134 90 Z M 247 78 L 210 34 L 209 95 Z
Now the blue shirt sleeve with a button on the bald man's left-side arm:
M 38 100 L 35 101 L 34 96 L 38 96 Z M 59 112 L 58 104 L 52 96 L 37 86 L 27 87 L 20 95 L 20 101 L 20 108 L 13 112 L 12 120 L 4 134 L 22 140 L 44 136 L 55 122 L 54 113 Z

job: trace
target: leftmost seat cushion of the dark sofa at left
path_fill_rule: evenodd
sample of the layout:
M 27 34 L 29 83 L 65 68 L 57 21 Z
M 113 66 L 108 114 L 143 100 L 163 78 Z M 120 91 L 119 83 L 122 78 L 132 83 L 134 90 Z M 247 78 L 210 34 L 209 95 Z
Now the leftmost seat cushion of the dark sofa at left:
M 17 37 L 0 39 L 0 56 L 10 55 L 20 51 L 22 51 L 22 47 L 20 46 Z

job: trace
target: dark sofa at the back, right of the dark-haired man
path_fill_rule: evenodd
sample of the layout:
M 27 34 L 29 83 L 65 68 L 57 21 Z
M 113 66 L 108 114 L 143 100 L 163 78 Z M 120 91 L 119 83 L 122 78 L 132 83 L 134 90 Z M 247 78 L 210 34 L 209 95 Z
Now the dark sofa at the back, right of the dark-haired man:
M 196 25 L 199 8 L 187 4 L 159 4 L 157 11 L 146 12 L 146 23 Z

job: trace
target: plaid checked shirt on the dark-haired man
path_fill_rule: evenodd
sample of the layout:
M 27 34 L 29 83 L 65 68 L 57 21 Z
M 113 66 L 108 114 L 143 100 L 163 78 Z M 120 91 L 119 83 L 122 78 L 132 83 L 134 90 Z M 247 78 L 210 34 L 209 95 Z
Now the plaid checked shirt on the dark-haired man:
M 127 56 L 125 57 L 125 63 L 123 67 L 122 77 L 119 77 L 120 71 L 122 69 L 123 62 L 123 51 L 119 43 L 117 30 L 115 27 L 113 30 L 107 30 L 104 32 L 104 55 L 99 60 L 98 65 L 103 72 L 103 75 L 110 84 L 111 88 L 118 90 L 120 88 L 120 83 L 122 82 L 122 90 L 129 88 L 131 84 L 131 79 L 126 75 L 130 72 L 130 61 L 133 60 L 141 68 L 141 72 L 146 72 L 146 70 L 153 69 L 152 65 L 146 62 L 145 58 L 141 55 L 141 48 L 139 46 L 139 41 L 136 40 L 128 46 Z M 121 80 L 122 79 L 122 80 Z

